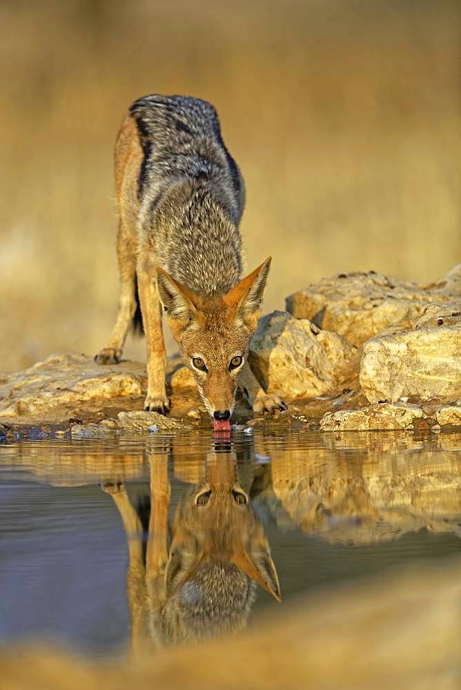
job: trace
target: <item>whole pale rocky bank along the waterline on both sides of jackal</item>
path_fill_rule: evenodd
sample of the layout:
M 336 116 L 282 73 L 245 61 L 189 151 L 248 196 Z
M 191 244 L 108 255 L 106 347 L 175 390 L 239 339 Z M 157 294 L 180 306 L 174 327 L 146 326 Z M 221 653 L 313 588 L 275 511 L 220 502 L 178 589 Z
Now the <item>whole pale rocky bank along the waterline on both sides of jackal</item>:
M 461 426 L 461 264 L 431 285 L 373 271 L 322 279 L 259 322 L 250 362 L 290 403 L 285 424 L 324 431 Z M 142 412 L 146 368 L 52 355 L 0 376 L 0 431 L 180 430 L 208 424 L 192 375 L 168 364 L 170 417 Z M 235 420 L 257 424 L 243 398 Z

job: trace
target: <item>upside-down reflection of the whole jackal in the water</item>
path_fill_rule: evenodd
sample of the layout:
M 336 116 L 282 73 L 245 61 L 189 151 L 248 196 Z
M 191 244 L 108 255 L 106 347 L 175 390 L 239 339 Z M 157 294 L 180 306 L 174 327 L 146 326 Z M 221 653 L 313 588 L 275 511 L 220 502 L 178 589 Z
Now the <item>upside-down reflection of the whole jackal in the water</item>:
M 135 509 L 123 484 L 105 482 L 128 540 L 128 606 L 133 652 L 199 642 L 244 629 L 256 582 L 280 600 L 280 587 L 250 487 L 235 453 L 208 454 L 204 476 L 186 487 L 170 529 L 168 457 L 150 462 L 150 511 L 144 553 L 142 504 Z

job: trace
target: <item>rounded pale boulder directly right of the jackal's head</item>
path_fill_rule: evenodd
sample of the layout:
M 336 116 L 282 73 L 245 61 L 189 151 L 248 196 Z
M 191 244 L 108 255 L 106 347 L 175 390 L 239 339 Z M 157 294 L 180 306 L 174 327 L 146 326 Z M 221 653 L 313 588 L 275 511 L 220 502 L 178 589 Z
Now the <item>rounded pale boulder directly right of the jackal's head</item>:
M 288 399 L 337 390 L 357 371 L 357 349 L 346 339 L 282 311 L 260 319 L 250 350 L 265 390 Z

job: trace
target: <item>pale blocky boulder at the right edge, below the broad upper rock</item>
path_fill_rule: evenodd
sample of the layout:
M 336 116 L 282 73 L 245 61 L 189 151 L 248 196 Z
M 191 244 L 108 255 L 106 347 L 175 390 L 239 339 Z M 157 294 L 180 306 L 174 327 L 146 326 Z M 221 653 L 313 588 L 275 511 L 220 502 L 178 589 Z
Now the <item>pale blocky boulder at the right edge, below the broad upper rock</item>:
M 460 326 L 402 327 L 364 344 L 360 385 L 371 403 L 400 397 L 440 401 L 461 397 Z

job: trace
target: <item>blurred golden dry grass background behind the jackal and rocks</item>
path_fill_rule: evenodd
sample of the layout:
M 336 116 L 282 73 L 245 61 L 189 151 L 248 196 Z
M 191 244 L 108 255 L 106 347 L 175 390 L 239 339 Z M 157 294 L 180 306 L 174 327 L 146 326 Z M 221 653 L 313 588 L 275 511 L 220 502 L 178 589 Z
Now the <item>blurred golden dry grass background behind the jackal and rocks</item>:
M 149 92 L 212 101 L 266 308 L 322 275 L 460 261 L 455 0 L 0 3 L 0 369 L 95 353 L 117 304 L 112 146 Z M 144 344 L 126 354 L 143 357 Z

